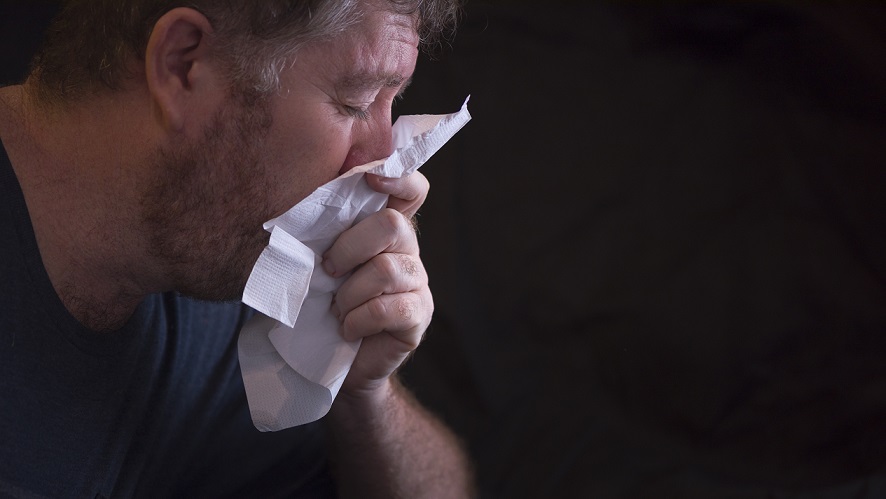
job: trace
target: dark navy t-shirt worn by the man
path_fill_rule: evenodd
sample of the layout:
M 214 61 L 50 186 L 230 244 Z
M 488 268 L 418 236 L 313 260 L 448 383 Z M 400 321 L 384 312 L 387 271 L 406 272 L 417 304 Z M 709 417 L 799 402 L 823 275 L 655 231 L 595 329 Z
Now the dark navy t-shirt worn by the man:
M 84 328 L 44 270 L 2 147 L 0 234 L 0 496 L 331 495 L 318 424 L 252 425 L 245 306 L 152 295 L 115 333 Z

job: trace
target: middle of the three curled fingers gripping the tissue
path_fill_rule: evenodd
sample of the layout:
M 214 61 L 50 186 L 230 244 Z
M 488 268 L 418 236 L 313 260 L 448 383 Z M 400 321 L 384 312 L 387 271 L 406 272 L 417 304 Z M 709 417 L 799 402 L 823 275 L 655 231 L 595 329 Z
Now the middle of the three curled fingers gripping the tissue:
M 420 259 L 402 253 L 382 253 L 341 285 L 335 294 L 334 312 L 342 318 L 372 298 L 417 291 L 427 284 L 428 276 Z

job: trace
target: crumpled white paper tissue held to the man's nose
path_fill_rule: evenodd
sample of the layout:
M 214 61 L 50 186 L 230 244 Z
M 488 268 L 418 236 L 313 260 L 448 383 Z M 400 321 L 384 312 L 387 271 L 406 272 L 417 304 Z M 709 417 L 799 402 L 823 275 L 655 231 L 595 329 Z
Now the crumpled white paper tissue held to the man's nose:
M 365 174 L 397 178 L 414 172 L 471 119 L 467 104 L 447 115 L 401 116 L 387 159 L 349 170 L 265 222 L 270 242 L 243 292 L 243 303 L 260 313 L 247 321 L 238 342 L 249 411 L 259 430 L 310 423 L 329 411 L 360 342 L 342 339 L 330 311 L 348 276 L 326 274 L 321 256 L 343 231 L 386 205 L 388 196 L 373 191 Z

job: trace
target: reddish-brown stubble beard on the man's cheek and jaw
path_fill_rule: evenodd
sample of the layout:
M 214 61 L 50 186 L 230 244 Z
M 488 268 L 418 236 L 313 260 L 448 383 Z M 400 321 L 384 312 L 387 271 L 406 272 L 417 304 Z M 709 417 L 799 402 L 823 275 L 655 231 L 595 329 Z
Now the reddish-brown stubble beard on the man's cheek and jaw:
M 203 137 L 159 151 L 156 181 L 143 199 L 149 253 L 174 290 L 203 300 L 241 298 L 269 235 L 275 183 L 263 160 L 271 125 L 265 98 L 229 98 Z

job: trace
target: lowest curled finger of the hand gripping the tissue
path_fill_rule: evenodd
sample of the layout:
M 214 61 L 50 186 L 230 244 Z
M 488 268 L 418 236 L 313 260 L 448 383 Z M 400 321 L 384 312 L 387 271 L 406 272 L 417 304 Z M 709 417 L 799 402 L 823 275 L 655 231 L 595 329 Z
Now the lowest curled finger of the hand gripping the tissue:
M 431 322 L 433 303 L 428 288 L 377 296 L 351 310 L 342 321 L 342 336 L 354 341 L 386 332 L 409 352 L 418 347 Z

